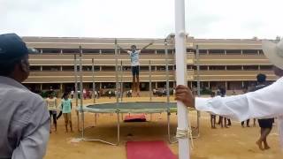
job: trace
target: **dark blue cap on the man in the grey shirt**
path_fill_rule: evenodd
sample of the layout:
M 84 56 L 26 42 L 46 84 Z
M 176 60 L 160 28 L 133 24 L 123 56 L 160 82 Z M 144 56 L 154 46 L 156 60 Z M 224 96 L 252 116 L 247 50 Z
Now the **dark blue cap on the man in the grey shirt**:
M 0 61 L 19 59 L 37 52 L 36 49 L 27 48 L 17 34 L 0 34 Z

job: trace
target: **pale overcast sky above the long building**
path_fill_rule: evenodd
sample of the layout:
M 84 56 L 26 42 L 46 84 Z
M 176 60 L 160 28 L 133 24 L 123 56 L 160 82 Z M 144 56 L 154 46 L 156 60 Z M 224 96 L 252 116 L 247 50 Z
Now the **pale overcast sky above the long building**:
M 186 0 L 195 38 L 275 39 L 283 0 Z M 0 34 L 164 38 L 174 32 L 174 0 L 0 0 Z

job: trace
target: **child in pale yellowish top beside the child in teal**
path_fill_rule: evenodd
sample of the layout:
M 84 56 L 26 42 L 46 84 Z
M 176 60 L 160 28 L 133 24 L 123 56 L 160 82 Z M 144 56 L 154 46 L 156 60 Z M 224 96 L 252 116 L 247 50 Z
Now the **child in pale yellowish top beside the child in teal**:
M 57 98 L 54 97 L 54 93 L 50 92 L 49 97 L 46 99 L 47 108 L 50 111 L 50 133 L 51 133 L 51 120 L 53 118 L 53 125 L 55 132 L 57 132 Z

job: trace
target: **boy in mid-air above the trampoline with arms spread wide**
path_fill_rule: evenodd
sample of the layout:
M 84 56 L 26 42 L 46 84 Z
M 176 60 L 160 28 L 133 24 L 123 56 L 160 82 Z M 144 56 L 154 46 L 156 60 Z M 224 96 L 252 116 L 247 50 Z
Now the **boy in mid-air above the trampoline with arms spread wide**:
M 148 45 L 143 47 L 142 49 L 148 48 L 152 45 L 153 42 L 150 42 Z M 131 46 L 131 50 L 123 49 L 119 46 L 119 49 L 127 52 L 131 57 L 131 66 L 132 66 L 132 74 L 133 74 L 133 90 L 137 96 L 140 96 L 140 53 L 142 49 L 136 49 L 135 45 Z M 136 81 L 136 82 L 135 82 Z

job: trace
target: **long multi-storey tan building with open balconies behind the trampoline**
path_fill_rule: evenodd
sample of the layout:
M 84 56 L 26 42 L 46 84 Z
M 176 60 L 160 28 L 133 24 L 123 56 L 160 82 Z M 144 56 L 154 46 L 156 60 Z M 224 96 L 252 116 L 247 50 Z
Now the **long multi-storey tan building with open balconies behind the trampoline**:
M 175 86 L 174 37 L 168 36 L 168 64 L 170 87 Z M 96 88 L 111 88 L 116 83 L 116 57 L 114 38 L 70 38 L 70 37 L 23 37 L 29 47 L 38 49 L 40 54 L 30 55 L 31 73 L 25 85 L 33 90 L 53 87 L 69 91 L 74 87 L 74 54 L 79 55 L 82 47 L 83 86 L 92 88 L 92 58 L 95 64 Z M 121 47 L 129 49 L 132 44 L 140 49 L 152 42 L 148 49 L 142 50 L 141 90 L 149 90 L 149 61 L 151 65 L 152 87 L 164 87 L 165 46 L 161 39 L 117 39 Z M 196 46 L 199 50 L 197 60 Z M 79 57 L 79 56 L 77 56 Z M 132 76 L 130 57 L 118 50 L 118 65 L 122 64 L 119 81 L 125 88 L 131 86 Z M 200 65 L 197 73 L 196 65 Z M 202 87 L 214 89 L 218 86 L 228 90 L 240 90 L 256 81 L 256 74 L 262 72 L 269 81 L 276 77 L 272 64 L 264 57 L 261 41 L 255 39 L 195 39 L 187 37 L 187 84 L 195 87 L 196 80 Z

